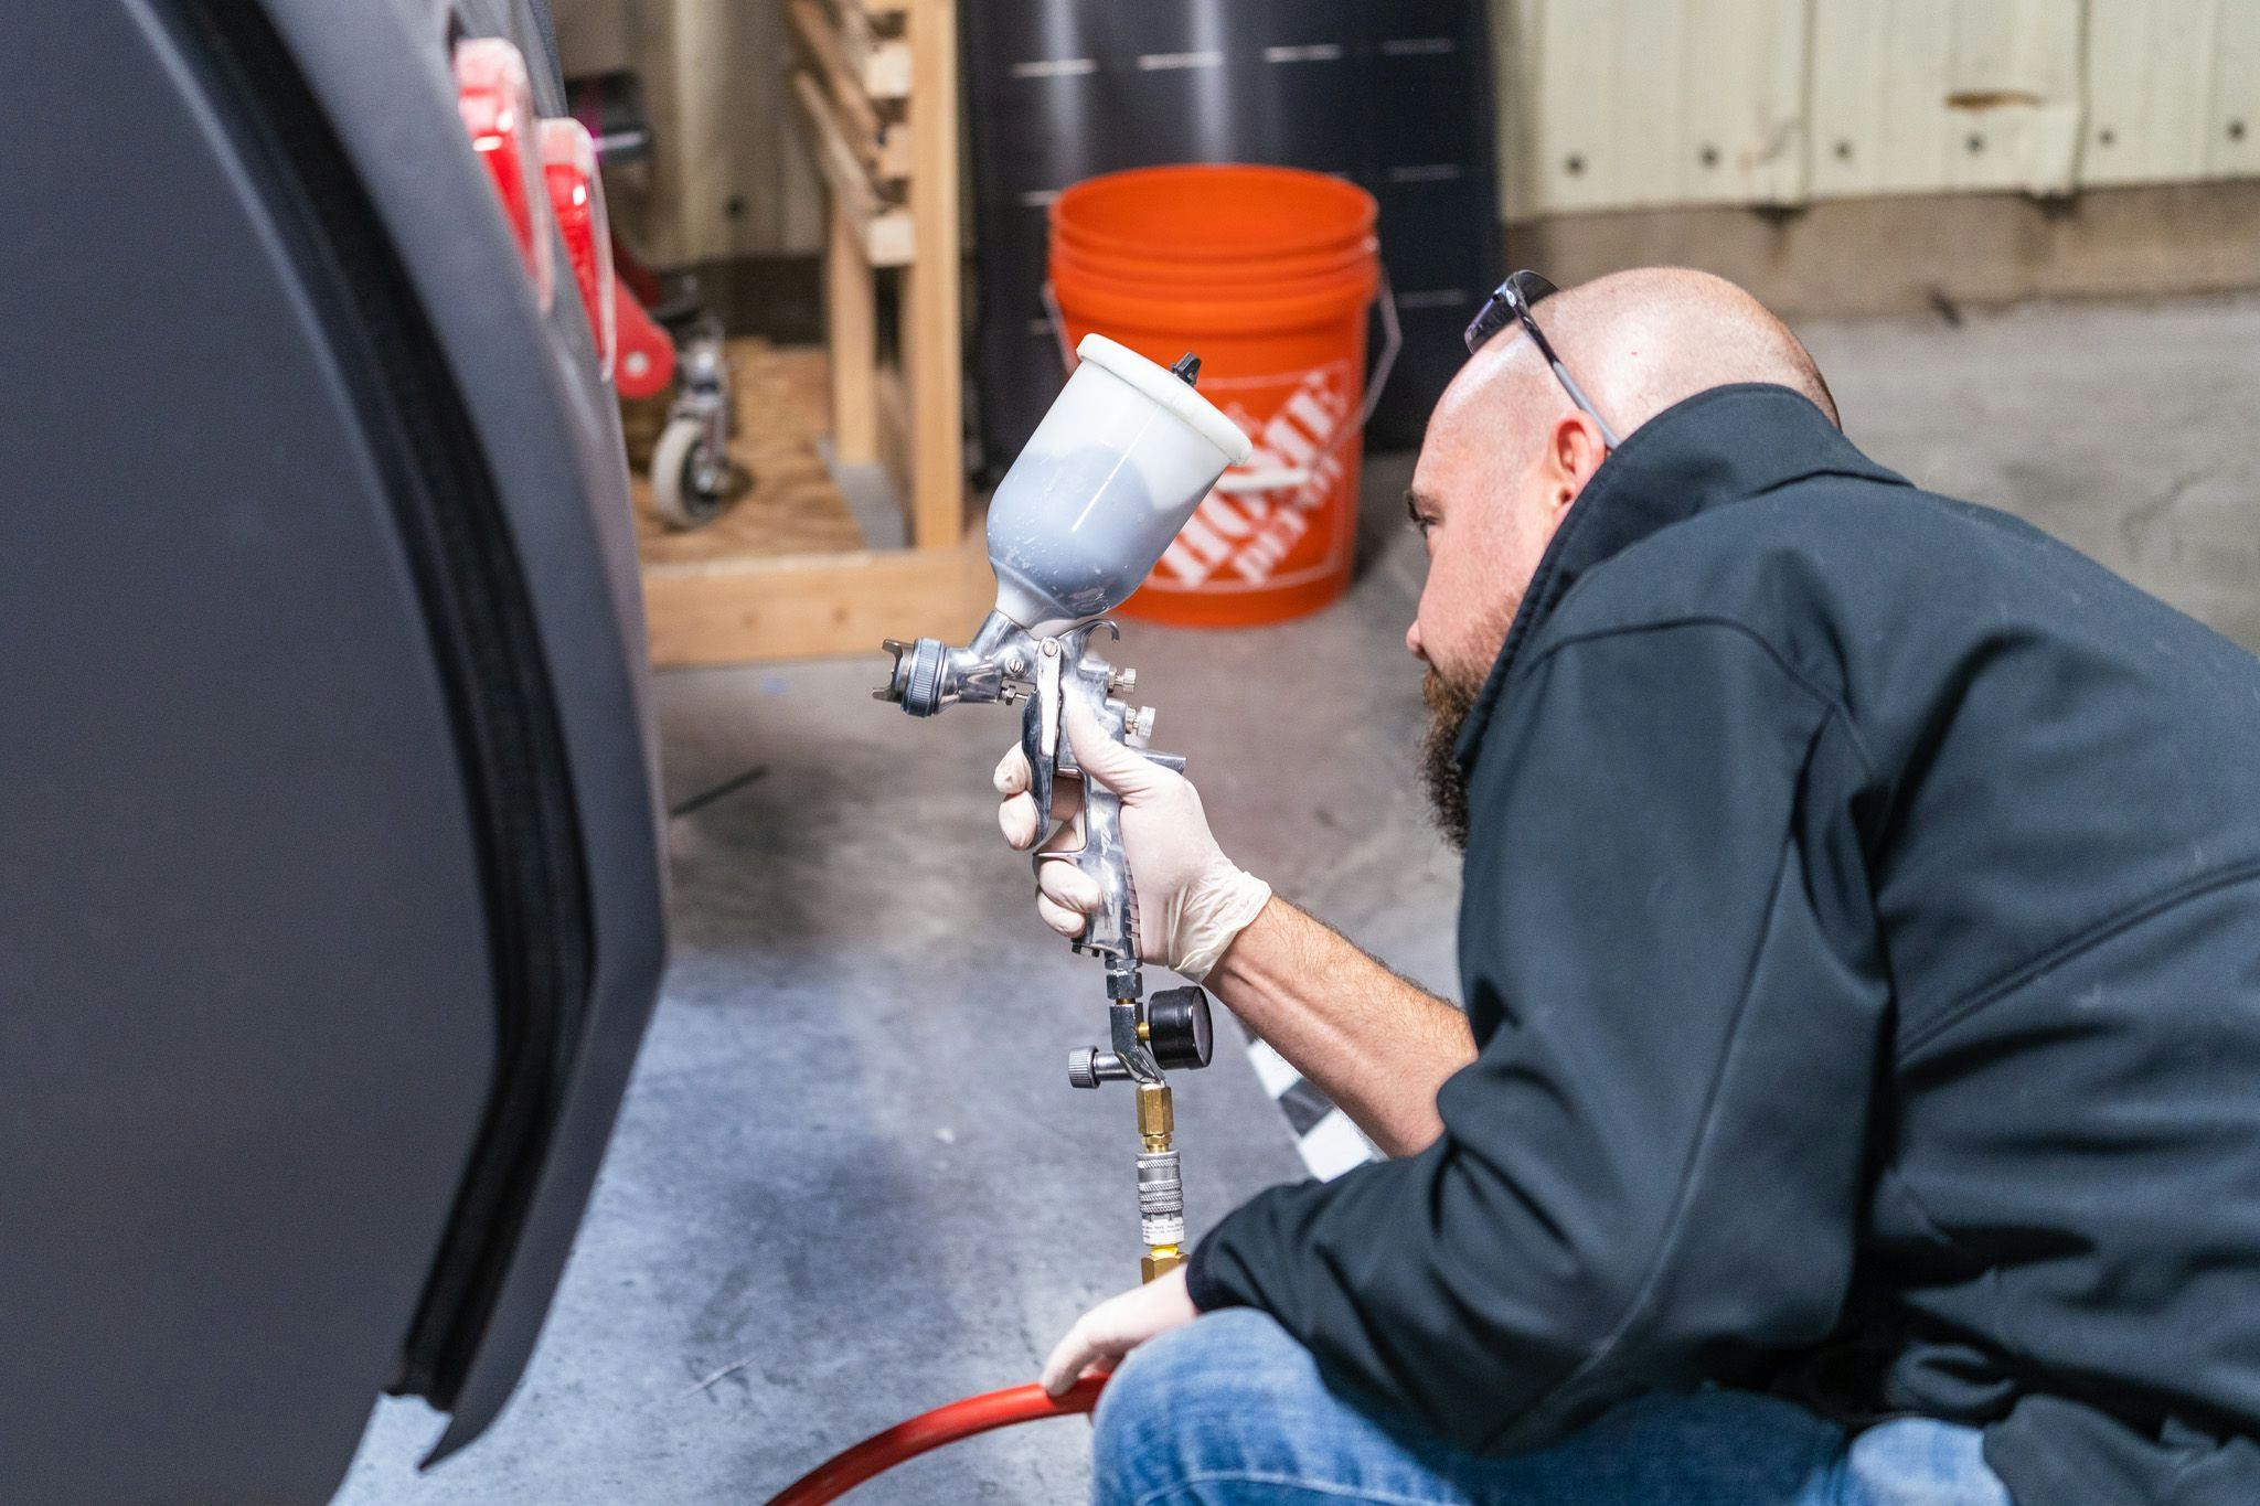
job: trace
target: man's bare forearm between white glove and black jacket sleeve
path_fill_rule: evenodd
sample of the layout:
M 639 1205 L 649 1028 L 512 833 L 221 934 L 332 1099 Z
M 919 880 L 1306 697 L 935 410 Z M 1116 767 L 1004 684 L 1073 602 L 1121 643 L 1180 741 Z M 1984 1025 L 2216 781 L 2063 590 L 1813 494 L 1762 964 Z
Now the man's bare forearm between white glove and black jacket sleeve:
M 1458 1009 L 1277 896 L 1207 984 L 1390 1156 L 1435 1140 L 1435 1091 L 1476 1059 Z

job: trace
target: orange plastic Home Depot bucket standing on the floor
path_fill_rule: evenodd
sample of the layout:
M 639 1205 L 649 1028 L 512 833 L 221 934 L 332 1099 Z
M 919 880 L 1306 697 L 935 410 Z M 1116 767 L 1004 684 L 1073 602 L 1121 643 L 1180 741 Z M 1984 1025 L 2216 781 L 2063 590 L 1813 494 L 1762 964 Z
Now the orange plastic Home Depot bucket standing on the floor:
M 1349 585 L 1374 199 L 1290 167 L 1139 167 L 1051 205 L 1062 339 L 1200 352 L 1200 391 L 1257 445 L 1225 472 L 1123 612 L 1277 623 Z

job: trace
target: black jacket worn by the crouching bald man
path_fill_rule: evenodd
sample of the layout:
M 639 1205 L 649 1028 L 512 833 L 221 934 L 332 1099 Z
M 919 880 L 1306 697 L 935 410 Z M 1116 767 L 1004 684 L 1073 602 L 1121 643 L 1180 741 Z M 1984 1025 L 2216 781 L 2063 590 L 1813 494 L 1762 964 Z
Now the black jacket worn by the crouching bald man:
M 1727 386 L 1573 504 L 1460 756 L 1444 1136 L 1252 1199 L 1200 1307 L 1478 1450 L 1797 1382 L 2027 1506 L 2260 1501 L 2260 662 Z

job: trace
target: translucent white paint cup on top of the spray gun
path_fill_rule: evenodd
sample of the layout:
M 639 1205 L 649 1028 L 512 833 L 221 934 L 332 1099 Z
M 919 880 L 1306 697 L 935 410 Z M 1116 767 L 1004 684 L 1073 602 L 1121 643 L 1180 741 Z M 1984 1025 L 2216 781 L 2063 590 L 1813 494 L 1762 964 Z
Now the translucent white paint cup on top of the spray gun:
M 1254 445 L 1175 368 L 1103 334 L 990 501 L 997 610 L 1040 637 L 1121 605 L 1227 465 Z

